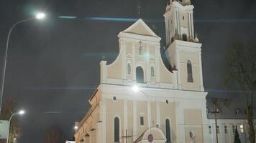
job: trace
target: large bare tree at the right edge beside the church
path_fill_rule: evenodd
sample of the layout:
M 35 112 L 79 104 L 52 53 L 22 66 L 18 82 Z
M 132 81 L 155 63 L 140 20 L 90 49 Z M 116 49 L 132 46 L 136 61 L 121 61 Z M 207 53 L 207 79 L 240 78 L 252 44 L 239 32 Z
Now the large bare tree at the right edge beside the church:
M 226 55 L 225 83 L 237 84 L 242 90 L 249 125 L 249 139 L 255 143 L 253 127 L 253 94 L 256 87 L 256 47 L 237 42 L 230 46 Z

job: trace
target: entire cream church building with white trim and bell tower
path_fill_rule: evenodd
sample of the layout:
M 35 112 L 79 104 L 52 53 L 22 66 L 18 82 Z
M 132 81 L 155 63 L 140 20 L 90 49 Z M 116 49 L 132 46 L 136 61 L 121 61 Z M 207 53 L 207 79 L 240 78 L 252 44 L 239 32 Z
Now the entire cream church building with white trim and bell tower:
M 91 108 L 76 122 L 76 143 L 214 142 L 193 5 L 170 1 L 164 16 L 171 68 L 163 63 L 161 38 L 142 19 L 121 31 L 119 55 L 111 64 L 101 61 Z

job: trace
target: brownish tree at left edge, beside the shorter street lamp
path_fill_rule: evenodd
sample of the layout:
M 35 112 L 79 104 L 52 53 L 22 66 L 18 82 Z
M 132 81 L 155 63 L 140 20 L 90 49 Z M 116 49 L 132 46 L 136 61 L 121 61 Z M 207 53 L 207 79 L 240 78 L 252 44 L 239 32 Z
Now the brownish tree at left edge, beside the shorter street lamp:
M 9 99 L 4 103 L 3 109 L 0 114 L 0 120 L 9 120 L 9 118 L 17 112 L 17 103 L 14 99 Z M 20 136 L 20 130 L 18 127 L 17 118 L 13 117 L 11 125 L 9 127 L 9 143 L 14 142 L 14 138 Z

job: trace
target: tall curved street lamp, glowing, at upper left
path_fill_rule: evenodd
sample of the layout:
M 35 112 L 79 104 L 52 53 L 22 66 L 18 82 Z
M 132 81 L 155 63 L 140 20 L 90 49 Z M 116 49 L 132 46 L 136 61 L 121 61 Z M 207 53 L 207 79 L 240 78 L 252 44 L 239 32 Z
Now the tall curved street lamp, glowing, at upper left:
M 44 19 L 44 18 L 45 18 L 45 14 L 44 13 L 38 13 L 35 17 L 17 21 L 15 24 L 12 25 L 11 29 L 8 32 L 7 41 L 6 41 L 6 49 L 5 49 L 5 54 L 4 54 L 4 64 L 3 64 L 3 69 L 2 69 L 3 71 L 2 71 L 2 75 L 1 75 L 0 114 L 1 114 L 1 107 L 2 107 L 2 102 L 3 102 L 3 96 L 4 96 L 4 79 L 5 79 L 5 72 L 6 72 L 7 54 L 8 54 L 8 49 L 9 49 L 9 39 L 10 39 L 10 36 L 12 34 L 12 30 L 14 29 L 15 26 L 17 26 L 18 24 L 21 24 L 23 22 L 31 21 L 31 20 L 35 20 L 35 19 L 41 20 L 41 19 Z

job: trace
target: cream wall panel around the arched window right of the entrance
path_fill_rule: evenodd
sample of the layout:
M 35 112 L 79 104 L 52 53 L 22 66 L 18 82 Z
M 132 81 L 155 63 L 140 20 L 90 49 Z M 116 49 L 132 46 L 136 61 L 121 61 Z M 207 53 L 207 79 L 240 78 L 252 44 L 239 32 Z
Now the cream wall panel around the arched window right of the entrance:
M 160 102 L 160 128 L 165 132 L 165 119 L 170 119 L 170 129 L 172 142 L 176 142 L 176 115 L 175 115 L 175 104 L 166 102 Z

